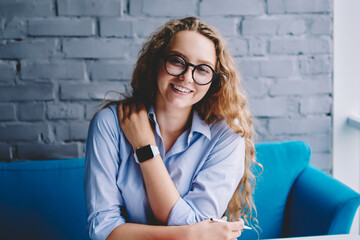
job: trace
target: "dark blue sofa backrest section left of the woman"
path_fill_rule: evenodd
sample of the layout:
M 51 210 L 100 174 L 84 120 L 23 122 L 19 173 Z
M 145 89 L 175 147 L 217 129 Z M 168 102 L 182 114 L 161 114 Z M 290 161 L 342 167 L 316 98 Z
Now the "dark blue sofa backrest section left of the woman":
M 84 159 L 0 163 L 0 239 L 89 239 Z

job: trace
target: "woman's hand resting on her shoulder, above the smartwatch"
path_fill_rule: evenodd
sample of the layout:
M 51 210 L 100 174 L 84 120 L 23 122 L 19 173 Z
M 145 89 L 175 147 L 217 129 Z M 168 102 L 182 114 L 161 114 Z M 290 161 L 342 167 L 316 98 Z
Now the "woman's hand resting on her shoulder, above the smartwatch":
M 134 150 L 149 144 L 156 145 L 155 134 L 143 104 L 120 103 L 118 117 L 121 129 Z

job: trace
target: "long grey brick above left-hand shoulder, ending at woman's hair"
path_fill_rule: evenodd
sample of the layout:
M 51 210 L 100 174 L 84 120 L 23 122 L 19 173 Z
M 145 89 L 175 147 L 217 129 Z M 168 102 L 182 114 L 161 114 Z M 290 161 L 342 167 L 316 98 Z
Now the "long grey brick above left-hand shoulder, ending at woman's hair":
M 63 84 L 60 88 L 62 100 L 103 100 L 109 91 L 125 92 L 123 82 L 101 82 L 92 84 Z M 107 95 L 107 98 L 118 99 L 116 94 Z

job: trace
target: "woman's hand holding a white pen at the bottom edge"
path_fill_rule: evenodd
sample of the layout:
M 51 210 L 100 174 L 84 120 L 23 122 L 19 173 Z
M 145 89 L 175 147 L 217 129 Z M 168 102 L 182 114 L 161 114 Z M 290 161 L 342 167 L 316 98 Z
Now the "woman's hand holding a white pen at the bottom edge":
M 223 217 L 222 220 L 226 221 L 226 217 Z M 213 222 L 208 219 L 189 225 L 189 227 L 190 239 L 236 240 L 241 236 L 244 221 L 241 218 L 235 222 Z

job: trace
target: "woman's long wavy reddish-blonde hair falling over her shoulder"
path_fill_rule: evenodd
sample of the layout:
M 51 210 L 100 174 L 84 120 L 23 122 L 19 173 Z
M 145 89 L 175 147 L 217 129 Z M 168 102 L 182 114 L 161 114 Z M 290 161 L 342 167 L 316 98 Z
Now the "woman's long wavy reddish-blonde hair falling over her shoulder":
M 180 31 L 196 31 L 215 44 L 217 56 L 215 71 L 219 73 L 219 77 L 211 83 L 204 98 L 194 105 L 194 110 L 207 124 L 225 119 L 234 132 L 244 137 L 244 175 L 224 215 L 228 214 L 230 221 L 242 217 L 249 223 L 248 220 L 253 219 L 257 225 L 256 208 L 252 198 L 255 176 L 251 171 L 251 166 L 260 164 L 255 158 L 252 119 L 247 108 L 247 98 L 240 85 L 240 74 L 224 40 L 216 29 L 195 17 L 171 20 L 166 23 L 143 45 L 132 75 L 132 93 L 125 97 L 125 101 L 142 102 L 147 107 L 155 104 L 160 61 L 171 38 Z M 241 156 L 239 156 L 239 161 L 240 158 Z

